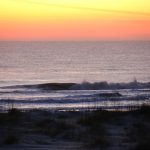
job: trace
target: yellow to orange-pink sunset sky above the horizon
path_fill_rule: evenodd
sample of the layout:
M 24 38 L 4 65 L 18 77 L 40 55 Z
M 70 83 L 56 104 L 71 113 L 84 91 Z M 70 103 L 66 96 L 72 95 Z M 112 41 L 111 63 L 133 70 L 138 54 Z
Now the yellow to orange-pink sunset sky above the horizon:
M 149 40 L 150 0 L 0 0 L 0 40 Z

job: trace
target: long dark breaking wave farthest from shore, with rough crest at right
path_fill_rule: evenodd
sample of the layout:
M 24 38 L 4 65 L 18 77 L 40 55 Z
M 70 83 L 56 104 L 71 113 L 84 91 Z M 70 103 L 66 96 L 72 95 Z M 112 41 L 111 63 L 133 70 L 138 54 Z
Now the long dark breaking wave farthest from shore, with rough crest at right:
M 16 85 L 1 87 L 6 88 L 25 88 L 25 89 L 39 89 L 39 90 L 115 90 L 115 89 L 149 89 L 150 82 L 133 81 L 129 83 L 108 83 L 104 82 L 83 82 L 83 83 L 44 83 L 33 85 Z

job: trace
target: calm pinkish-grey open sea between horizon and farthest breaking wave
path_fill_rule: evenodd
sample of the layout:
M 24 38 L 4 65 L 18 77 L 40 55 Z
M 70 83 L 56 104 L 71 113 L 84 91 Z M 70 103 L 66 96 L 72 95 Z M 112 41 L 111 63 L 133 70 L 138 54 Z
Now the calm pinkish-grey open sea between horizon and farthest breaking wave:
M 148 82 L 149 49 L 149 41 L 0 42 L 0 85 Z

